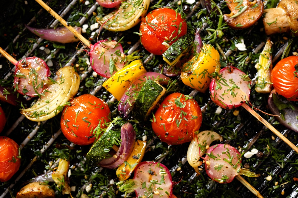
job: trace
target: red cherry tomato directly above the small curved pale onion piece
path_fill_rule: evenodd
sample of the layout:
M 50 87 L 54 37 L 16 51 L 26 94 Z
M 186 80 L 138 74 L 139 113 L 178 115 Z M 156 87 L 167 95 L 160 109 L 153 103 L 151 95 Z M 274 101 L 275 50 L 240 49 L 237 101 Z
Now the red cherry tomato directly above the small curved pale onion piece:
M 202 123 L 198 103 L 180 93 L 167 96 L 156 110 L 152 129 L 162 142 L 182 144 L 193 139 Z

